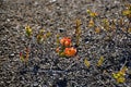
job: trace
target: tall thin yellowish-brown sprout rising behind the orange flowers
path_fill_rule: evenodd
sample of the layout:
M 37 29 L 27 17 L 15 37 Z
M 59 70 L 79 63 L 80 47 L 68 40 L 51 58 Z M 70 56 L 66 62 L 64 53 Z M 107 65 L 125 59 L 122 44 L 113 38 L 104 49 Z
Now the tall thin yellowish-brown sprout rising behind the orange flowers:
M 75 26 L 76 46 L 79 46 L 80 37 L 81 37 L 81 27 L 80 26 L 82 24 L 81 20 L 76 20 L 75 24 L 76 24 L 76 26 Z

